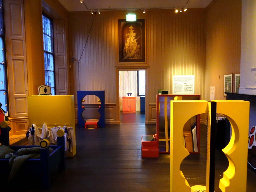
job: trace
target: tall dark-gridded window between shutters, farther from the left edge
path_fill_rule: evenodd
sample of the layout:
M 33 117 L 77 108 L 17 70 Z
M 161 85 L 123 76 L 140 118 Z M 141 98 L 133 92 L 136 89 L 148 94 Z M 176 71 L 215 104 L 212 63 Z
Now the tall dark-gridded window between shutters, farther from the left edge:
M 45 84 L 51 87 L 51 94 L 55 95 L 52 19 L 45 14 L 42 15 L 42 19 L 45 59 Z

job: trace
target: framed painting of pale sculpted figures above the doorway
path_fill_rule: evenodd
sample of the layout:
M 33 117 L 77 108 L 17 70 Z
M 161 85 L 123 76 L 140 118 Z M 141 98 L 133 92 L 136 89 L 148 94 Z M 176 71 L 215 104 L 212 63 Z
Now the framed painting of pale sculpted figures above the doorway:
M 145 19 L 118 20 L 119 63 L 145 62 Z

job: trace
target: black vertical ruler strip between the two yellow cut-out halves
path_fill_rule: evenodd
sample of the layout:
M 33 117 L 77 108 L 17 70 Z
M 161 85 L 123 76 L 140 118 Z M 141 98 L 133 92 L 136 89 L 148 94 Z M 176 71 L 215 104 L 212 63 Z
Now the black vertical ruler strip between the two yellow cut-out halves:
M 214 181 L 215 181 L 215 137 L 216 137 L 216 106 L 215 101 L 211 102 L 211 137 L 210 137 L 210 171 L 209 171 L 209 192 L 214 192 Z

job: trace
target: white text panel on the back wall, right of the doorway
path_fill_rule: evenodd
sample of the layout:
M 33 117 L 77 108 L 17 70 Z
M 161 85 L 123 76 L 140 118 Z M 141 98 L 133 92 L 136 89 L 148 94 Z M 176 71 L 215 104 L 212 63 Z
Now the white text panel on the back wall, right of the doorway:
M 179 95 L 195 94 L 195 76 L 194 75 L 174 75 L 173 76 L 173 94 L 179 94 Z

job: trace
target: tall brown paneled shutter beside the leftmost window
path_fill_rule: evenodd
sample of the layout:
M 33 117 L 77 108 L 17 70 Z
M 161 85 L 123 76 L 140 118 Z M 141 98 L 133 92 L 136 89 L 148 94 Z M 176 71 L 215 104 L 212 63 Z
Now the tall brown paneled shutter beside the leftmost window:
M 27 58 L 23 1 L 5 1 L 10 117 L 28 116 Z

